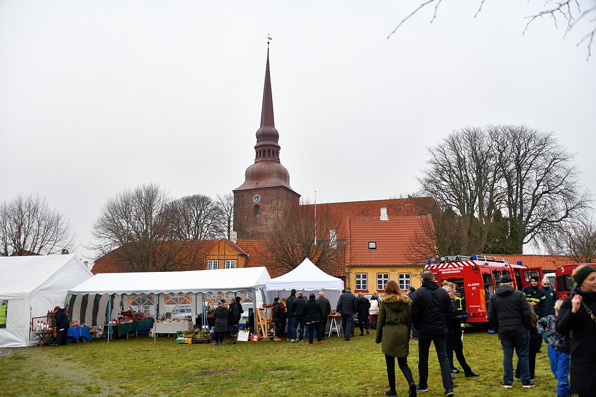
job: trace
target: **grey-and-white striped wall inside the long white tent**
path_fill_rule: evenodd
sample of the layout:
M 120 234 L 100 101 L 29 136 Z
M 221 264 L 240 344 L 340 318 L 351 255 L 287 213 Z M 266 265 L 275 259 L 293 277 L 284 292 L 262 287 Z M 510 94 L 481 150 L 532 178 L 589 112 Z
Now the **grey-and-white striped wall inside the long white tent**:
M 108 311 L 111 312 L 111 318 L 117 318 L 122 303 L 122 295 L 116 294 L 76 294 L 69 295 L 70 320 L 79 321 L 89 326 L 98 326 L 105 323 Z M 109 307 L 108 307 L 109 305 Z M 114 312 L 114 307 L 117 308 Z

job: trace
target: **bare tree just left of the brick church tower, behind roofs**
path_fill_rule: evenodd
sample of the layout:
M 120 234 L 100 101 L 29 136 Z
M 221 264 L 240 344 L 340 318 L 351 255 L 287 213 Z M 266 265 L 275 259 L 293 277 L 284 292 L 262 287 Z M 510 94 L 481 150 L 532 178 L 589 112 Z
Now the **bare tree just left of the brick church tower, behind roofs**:
M 215 239 L 222 235 L 222 211 L 206 195 L 184 196 L 169 206 L 173 217 L 172 237 L 176 240 Z

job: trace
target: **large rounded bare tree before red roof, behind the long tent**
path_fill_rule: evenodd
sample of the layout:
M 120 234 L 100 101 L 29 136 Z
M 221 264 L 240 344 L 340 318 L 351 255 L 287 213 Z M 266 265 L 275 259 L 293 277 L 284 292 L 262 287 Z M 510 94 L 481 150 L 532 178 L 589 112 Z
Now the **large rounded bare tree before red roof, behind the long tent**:
M 172 238 L 176 219 L 170 209 L 169 195 L 159 185 L 126 189 L 104 204 L 93 223 L 89 248 L 98 258 L 116 255 L 130 271 L 168 271 L 182 264 L 192 268 L 200 247 Z

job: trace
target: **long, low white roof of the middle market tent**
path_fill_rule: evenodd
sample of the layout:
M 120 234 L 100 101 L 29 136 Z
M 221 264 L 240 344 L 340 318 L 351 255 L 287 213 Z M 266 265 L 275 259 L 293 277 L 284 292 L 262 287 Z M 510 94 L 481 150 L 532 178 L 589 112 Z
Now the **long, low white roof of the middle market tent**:
M 69 290 L 69 294 L 238 292 L 265 287 L 269 279 L 271 277 L 265 267 L 100 273 Z

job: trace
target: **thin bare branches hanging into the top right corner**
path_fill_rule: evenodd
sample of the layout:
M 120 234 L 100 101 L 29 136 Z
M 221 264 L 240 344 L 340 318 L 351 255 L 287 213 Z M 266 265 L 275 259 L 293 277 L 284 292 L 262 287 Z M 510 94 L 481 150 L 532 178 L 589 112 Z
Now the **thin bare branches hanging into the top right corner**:
M 418 7 L 408 14 L 402 21 L 398 24 L 398 26 L 393 29 L 393 32 L 387 36 L 387 39 L 399 29 L 405 21 L 409 20 L 409 18 L 413 17 L 418 11 L 422 10 L 427 5 L 434 3 L 434 13 L 433 17 L 430 20 L 430 23 L 433 23 L 434 18 L 437 17 L 437 10 L 439 9 L 439 5 L 443 0 L 426 0 L 423 1 Z M 479 0 L 479 8 L 476 11 L 477 17 L 480 11 L 482 11 L 482 6 L 484 5 L 486 0 Z M 583 7 L 583 4 L 588 3 L 588 7 Z M 592 43 L 594 42 L 594 36 L 596 36 L 596 26 L 594 26 L 594 21 L 596 21 L 596 5 L 589 4 L 589 0 L 558 0 L 558 1 L 546 1 L 542 6 L 543 9 L 536 12 L 535 14 L 528 15 L 526 18 L 528 20 L 526 24 L 526 29 L 523 30 L 523 33 L 526 33 L 526 30 L 530 26 L 530 23 L 539 20 L 544 17 L 551 18 L 555 28 L 558 29 L 558 21 L 562 20 L 565 27 L 565 32 L 563 37 L 566 37 L 569 32 L 578 27 L 579 24 L 584 23 L 584 29 L 586 30 L 586 35 L 579 40 L 578 46 L 582 42 L 586 42 L 586 48 L 588 49 L 588 58 L 590 58 Z

